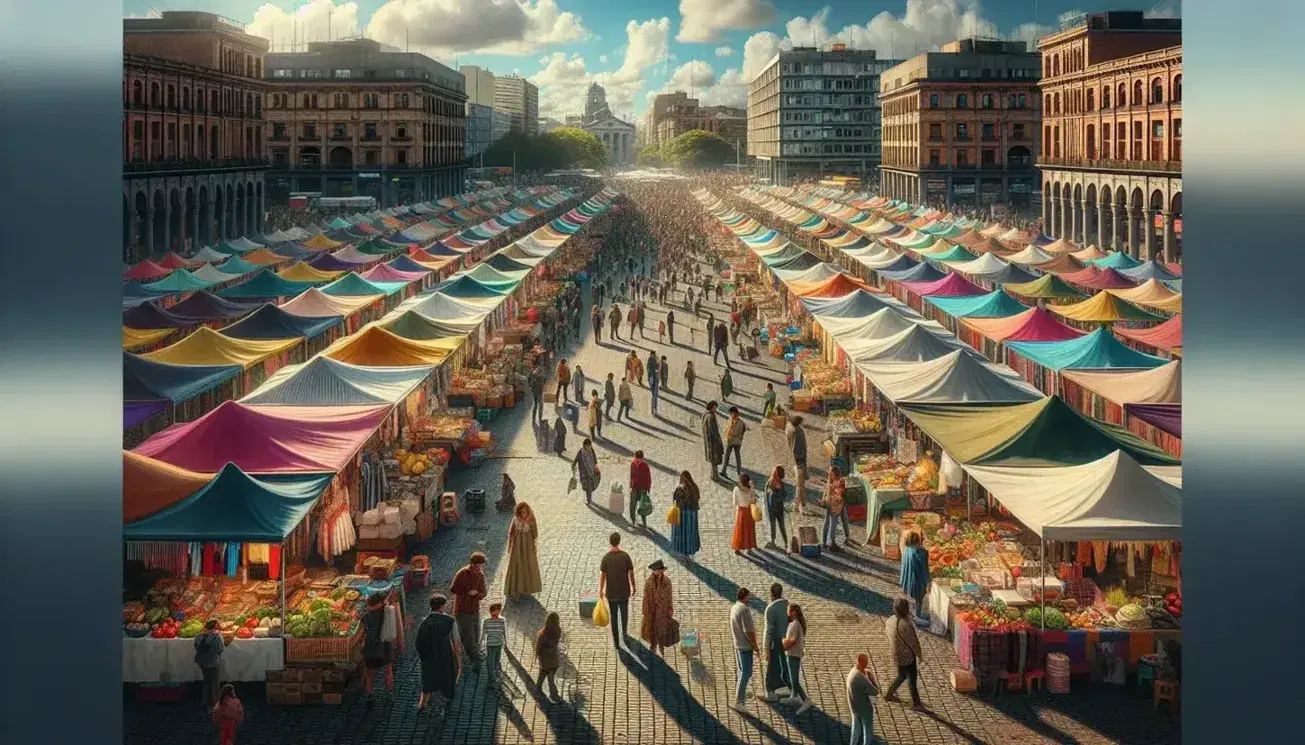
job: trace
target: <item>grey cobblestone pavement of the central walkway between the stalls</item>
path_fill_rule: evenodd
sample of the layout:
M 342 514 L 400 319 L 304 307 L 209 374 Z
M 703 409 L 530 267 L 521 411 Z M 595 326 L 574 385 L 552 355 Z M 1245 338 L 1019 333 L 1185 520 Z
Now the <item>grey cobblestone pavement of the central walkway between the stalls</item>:
M 707 304 L 718 318 L 727 308 Z M 650 327 L 656 327 L 660 308 L 650 309 Z M 480 470 L 461 471 L 450 476 L 450 489 L 459 493 L 479 487 L 497 493 L 499 475 L 508 471 L 518 484 L 519 500 L 530 501 L 539 515 L 539 562 L 544 578 L 543 592 L 534 599 L 509 601 L 505 611 L 509 643 L 505 652 L 504 685 L 491 690 L 483 671 L 470 669 L 458 686 L 457 697 L 444 715 L 418 714 L 419 671 L 411 645 L 403 650 L 394 692 L 382 692 L 368 699 L 355 682 L 339 706 L 277 707 L 265 703 L 261 685 L 240 688 L 247 707 L 247 720 L 238 736 L 241 745 L 317 745 L 359 742 L 372 745 L 407 745 L 415 742 L 467 744 L 624 744 L 624 742 L 847 742 L 848 714 L 844 678 L 857 652 L 867 651 L 881 682 L 893 678 L 883 617 L 897 594 L 897 568 L 883 561 L 877 549 L 852 548 L 838 556 L 818 560 L 786 556 L 763 549 L 757 556 L 736 556 L 729 549 L 733 508 L 728 488 L 714 484 L 702 459 L 698 418 L 702 395 L 718 398 L 715 377 L 719 374 L 709 355 L 702 352 L 703 327 L 698 321 L 694 344 L 688 346 L 684 327 L 688 313 L 676 324 L 677 344 L 654 343 L 655 333 L 637 339 L 633 347 L 646 356 L 649 348 L 667 354 L 671 385 L 663 393 L 660 412 L 649 412 L 647 389 L 636 388 L 636 420 L 630 424 L 607 424 L 606 438 L 596 442 L 604 471 L 604 487 L 611 479 L 624 480 L 626 463 L 636 449 L 642 449 L 652 466 L 654 513 L 649 531 L 633 528 L 622 517 L 587 508 L 583 493 L 566 493 L 570 463 L 553 454 L 539 453 L 530 425 L 530 406 L 499 416 L 491 429 L 500 438 L 500 449 Z M 587 314 L 586 314 L 587 318 Z M 621 356 L 630 343 L 622 339 L 596 344 L 585 324 L 583 346 L 573 348 L 569 359 L 578 363 L 590 378 L 603 378 L 608 372 L 620 376 Z M 692 359 L 698 369 L 699 401 L 684 398 L 683 369 Z M 758 421 L 761 393 L 767 381 L 780 389 L 783 373 L 778 360 L 763 356 L 757 363 L 735 360 L 736 394 L 729 403 L 740 406 L 749 421 L 744 446 L 745 468 L 763 480 L 770 467 L 786 463 L 783 433 Z M 586 385 L 586 390 L 592 388 Z M 722 407 L 723 410 L 726 407 Z M 823 454 L 820 453 L 820 420 L 810 418 L 808 441 L 813 463 L 809 484 L 812 498 L 822 485 Z M 582 419 L 583 421 L 583 419 Z M 568 437 L 568 455 L 574 455 L 583 434 Z M 823 461 L 823 462 L 822 462 Z M 681 468 L 694 472 L 703 487 L 701 535 L 702 551 L 694 562 L 680 562 L 669 552 L 669 528 L 664 522 L 675 474 Z M 599 496 L 595 494 L 595 498 Z M 602 497 L 606 501 L 606 493 Z M 818 518 L 796 518 L 803 525 L 818 526 Z M 792 521 L 791 521 L 792 522 Z M 462 523 L 440 530 L 422 548 L 431 557 L 435 585 L 446 587 L 453 573 L 472 551 L 488 556 L 487 577 L 491 578 L 489 599 L 499 598 L 506 569 L 508 517 L 492 508 L 484 514 L 465 514 Z M 607 549 L 608 532 L 622 532 L 622 548 L 634 558 L 642 583 L 645 568 L 655 558 L 666 560 L 675 590 L 675 613 L 683 629 L 696 629 L 703 635 L 699 660 L 688 660 L 675 648 L 664 659 L 639 650 L 634 656 L 620 658 L 611 645 L 607 629 L 596 629 L 578 616 L 577 601 L 586 590 L 596 588 L 598 562 Z M 758 539 L 769 538 L 758 526 Z M 864 527 L 853 525 L 853 540 L 864 540 Z M 735 685 L 733 650 L 729 641 L 728 611 L 739 585 L 753 590 L 756 621 L 761 629 L 762 604 L 771 582 L 784 586 L 786 596 L 803 604 L 809 624 L 803 675 L 814 707 L 803 715 L 783 705 L 749 701 L 748 714 L 731 708 Z M 642 586 L 642 585 L 641 585 Z M 427 613 L 427 590 L 408 595 L 407 611 L 414 618 Z M 564 665 L 559 676 L 562 701 L 548 703 L 534 689 L 535 660 L 531 639 L 543 625 L 544 615 L 559 611 L 564 629 Z M 630 628 L 637 635 L 638 603 L 632 603 Z M 1134 689 L 1111 686 L 1077 686 L 1071 695 L 1006 694 L 1001 698 L 979 698 L 954 693 L 947 673 L 957 667 L 949 641 L 921 634 L 924 664 L 920 672 L 921 694 L 929 712 L 915 712 L 902 705 L 880 701 L 876 706 L 874 729 L 886 742 L 1177 742 L 1177 720 L 1161 708 L 1152 711 L 1148 698 Z M 752 693 L 761 690 L 762 671 L 758 664 Z M 1082 688 L 1082 689 L 1079 689 Z M 210 722 L 201 712 L 197 693 L 187 703 L 142 705 L 124 693 L 125 742 L 179 744 L 205 742 L 215 738 Z

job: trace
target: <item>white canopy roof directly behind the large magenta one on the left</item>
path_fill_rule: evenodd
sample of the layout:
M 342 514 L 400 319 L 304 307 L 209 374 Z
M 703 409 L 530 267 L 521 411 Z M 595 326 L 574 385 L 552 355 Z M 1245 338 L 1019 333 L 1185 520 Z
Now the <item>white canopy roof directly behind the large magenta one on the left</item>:
M 316 356 L 286 365 L 240 399 L 260 406 L 397 404 L 431 376 L 431 365 L 365 368 Z

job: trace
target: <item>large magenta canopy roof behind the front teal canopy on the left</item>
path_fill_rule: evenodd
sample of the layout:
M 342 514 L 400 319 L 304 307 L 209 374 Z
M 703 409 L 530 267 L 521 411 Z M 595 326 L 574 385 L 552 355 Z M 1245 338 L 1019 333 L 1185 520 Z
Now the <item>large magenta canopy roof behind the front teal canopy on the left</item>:
M 192 471 L 217 472 L 235 463 L 248 474 L 334 474 L 392 408 L 227 401 L 194 421 L 168 427 L 134 451 Z

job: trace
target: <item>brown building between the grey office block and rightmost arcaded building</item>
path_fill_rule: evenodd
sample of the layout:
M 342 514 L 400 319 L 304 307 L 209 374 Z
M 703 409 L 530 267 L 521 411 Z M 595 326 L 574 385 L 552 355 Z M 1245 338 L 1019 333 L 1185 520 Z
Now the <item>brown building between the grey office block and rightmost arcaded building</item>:
M 1040 123 L 1036 52 L 960 39 L 881 77 L 881 193 L 947 207 L 1031 207 Z

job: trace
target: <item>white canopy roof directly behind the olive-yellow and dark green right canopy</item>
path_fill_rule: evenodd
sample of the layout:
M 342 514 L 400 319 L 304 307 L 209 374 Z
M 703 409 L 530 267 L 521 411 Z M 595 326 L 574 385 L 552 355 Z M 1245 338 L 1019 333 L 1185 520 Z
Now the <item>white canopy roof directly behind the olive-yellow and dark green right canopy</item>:
M 857 365 L 889 401 L 919 403 L 1026 402 L 1043 394 L 1010 368 L 963 350 L 923 363 Z

